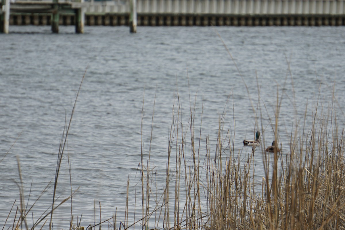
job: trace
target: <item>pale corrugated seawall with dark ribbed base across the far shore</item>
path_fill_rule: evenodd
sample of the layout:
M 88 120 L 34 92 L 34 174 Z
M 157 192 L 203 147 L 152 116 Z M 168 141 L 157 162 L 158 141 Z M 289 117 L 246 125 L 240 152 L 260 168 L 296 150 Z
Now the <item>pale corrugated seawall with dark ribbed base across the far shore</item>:
M 86 25 L 129 26 L 131 21 L 129 0 L 91 0 L 83 6 Z M 345 0 L 136 0 L 136 12 L 137 26 L 345 25 Z M 76 21 L 75 13 L 60 12 L 60 25 Z M 11 10 L 9 23 L 50 25 L 52 18 Z

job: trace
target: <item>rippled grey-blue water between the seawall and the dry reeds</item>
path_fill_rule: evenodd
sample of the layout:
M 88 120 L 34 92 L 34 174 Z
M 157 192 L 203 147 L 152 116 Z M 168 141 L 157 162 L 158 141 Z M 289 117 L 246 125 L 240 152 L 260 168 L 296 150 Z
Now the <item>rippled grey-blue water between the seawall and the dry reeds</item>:
M 0 34 L 1 225 L 15 199 L 15 207 L 19 205 L 16 156 L 26 202 L 31 187 L 29 205 L 54 178 L 65 120 L 69 121 L 85 70 L 65 151 L 71 177 L 65 157 L 57 189 L 63 199 L 71 193 L 70 178 L 72 190 L 80 187 L 72 214 L 76 219 L 83 213 L 83 226 L 94 222 L 94 209 L 99 219 L 99 202 L 102 220 L 112 217 L 116 207 L 123 212 L 127 178 L 131 194 L 138 188 L 143 102 L 145 157 L 154 111 L 150 162 L 156 166 L 158 182 L 165 181 L 177 92 L 186 126 L 189 104 L 196 104 L 196 136 L 204 105 L 201 154 L 206 136 L 211 141 L 217 137 L 223 111 L 224 131 L 235 130 L 235 152 L 250 151 L 242 141 L 254 137 L 256 116 L 263 118 L 262 134 L 269 145 L 274 138 L 269 119 L 274 117 L 277 87 L 279 96 L 284 94 L 279 120 L 283 146 L 289 144 L 295 121 L 303 120 L 307 103 L 308 121 L 318 98 L 327 111 L 333 87 L 336 107 L 340 114 L 344 111 L 344 27 L 139 27 L 136 34 L 127 27 L 86 27 L 85 34 L 73 31 L 72 26 L 60 27 L 59 34 L 46 26 L 11 26 L 10 34 Z M 262 115 L 260 110 L 257 115 L 253 112 L 250 99 L 254 108 L 259 102 Z M 340 116 L 339 128 L 343 126 Z M 287 148 L 283 154 L 288 153 Z M 261 155 L 255 163 L 260 178 Z M 49 188 L 34 206 L 35 218 L 51 199 Z M 69 226 L 68 202 L 55 214 L 57 229 Z M 13 216 L 14 210 L 9 222 Z

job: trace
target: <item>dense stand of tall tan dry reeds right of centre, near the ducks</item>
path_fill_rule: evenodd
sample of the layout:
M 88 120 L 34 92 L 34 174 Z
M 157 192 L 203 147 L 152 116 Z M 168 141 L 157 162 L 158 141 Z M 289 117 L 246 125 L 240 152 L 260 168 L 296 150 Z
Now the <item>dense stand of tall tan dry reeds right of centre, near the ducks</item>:
M 271 123 L 276 145 L 280 99 L 277 92 Z M 345 229 L 344 129 L 339 128 L 335 97 L 326 111 L 322 103 L 318 100 L 313 111 L 306 109 L 290 143 L 280 143 L 282 151 L 252 149 L 246 160 L 238 161 L 234 137 L 223 131 L 225 114 L 219 117 L 216 143 L 210 144 L 209 137 L 201 141 L 200 133 L 194 132 L 202 126 L 195 124 L 195 106 L 184 113 L 178 97 L 168 141 L 166 184 L 159 200 L 151 201 L 157 194 L 152 193 L 155 183 L 149 160 L 141 168 L 146 175 L 141 178 L 142 228 L 153 226 L 150 210 L 161 209 L 154 223 L 162 219 L 163 229 Z M 311 121 L 307 113 L 313 114 Z M 181 122 L 183 114 L 186 123 Z M 308 123 L 311 127 L 306 127 Z M 258 154 L 264 159 L 261 182 L 255 179 L 253 163 Z

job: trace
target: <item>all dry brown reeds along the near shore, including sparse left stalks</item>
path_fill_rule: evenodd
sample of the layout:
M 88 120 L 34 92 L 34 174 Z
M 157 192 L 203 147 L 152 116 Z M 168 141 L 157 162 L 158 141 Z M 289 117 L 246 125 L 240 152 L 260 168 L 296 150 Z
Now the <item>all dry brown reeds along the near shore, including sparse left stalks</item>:
M 229 51 L 228 53 L 231 57 Z M 240 71 L 238 72 L 240 73 Z M 85 73 L 82 79 L 84 79 Z M 73 196 L 78 189 L 73 191 L 71 183 L 70 196 L 58 201 L 56 188 L 59 186 L 58 176 L 61 160 L 68 154 L 68 151 L 65 151 L 68 130 L 81 85 L 82 81 L 71 117 L 69 120 L 66 119 L 61 137 L 53 186 L 48 184 L 41 193 L 42 195 L 53 187 L 52 203 L 37 220 L 32 221 L 32 224 L 29 223 L 27 219 L 31 216 L 31 210 L 39 202 L 41 195 L 31 206 L 25 203 L 26 198 L 24 197 L 18 159 L 19 205 L 17 201 L 14 201 L 3 224 L 4 227 L 6 223 L 11 223 L 8 229 L 53 229 L 54 211 L 66 201 L 71 202 L 72 210 Z M 101 227 L 118 230 L 135 228 L 145 230 L 344 229 L 345 159 L 343 141 L 345 133 L 344 129 L 341 128 L 342 124 L 338 124 L 339 115 L 336 107 L 339 104 L 334 92 L 333 98 L 329 99 L 328 104 L 323 104 L 321 99 L 323 97 L 320 94 L 319 92 L 312 111 L 309 111 L 308 105 L 306 105 L 304 119 L 295 121 L 291 128 L 290 141 L 283 145 L 279 142 L 278 124 L 279 109 L 284 92 L 279 94 L 277 87 L 274 116 L 270 119 L 270 127 L 264 128 L 262 122 L 264 116 L 260 112 L 257 114 L 258 111 L 262 110 L 258 84 L 257 106 L 253 105 L 252 99 L 250 100 L 255 117 L 258 117 L 255 127 L 253 127 L 253 133 L 256 131 L 262 133 L 260 138 L 263 144 L 255 149 L 244 147 L 243 151 L 247 151 L 249 154 L 244 160 L 239 160 L 240 153 L 235 152 L 234 149 L 235 116 L 233 116 L 234 120 L 230 129 L 225 128 L 226 114 L 224 108 L 217 124 L 217 137 L 214 139 L 207 136 L 204 139 L 201 137 L 200 131 L 203 127 L 204 104 L 201 114 L 198 114 L 189 92 L 189 109 L 185 111 L 177 92 L 169 128 L 170 135 L 163 188 L 157 184 L 155 167 L 150 159 L 154 113 L 152 113 L 151 138 L 148 150 L 144 149 L 144 142 L 142 141 L 144 139 L 142 136 L 143 100 L 140 127 L 141 154 L 140 159 L 138 159 L 140 179 L 136 181 L 140 185 L 141 196 L 135 198 L 136 202 L 132 207 L 132 204 L 128 202 L 128 180 L 123 216 L 115 210 L 114 216 L 102 219 L 101 205 L 99 204 L 99 221 L 96 222 L 95 218 L 95 220 L 88 220 L 94 224 L 81 226 L 82 215 L 80 218 L 75 218 L 71 214 L 70 224 L 65 228 L 74 230 L 101 229 Z M 266 107 L 265 109 L 267 111 Z M 307 116 L 307 114 L 312 114 L 312 116 Z M 341 113 L 341 116 L 344 114 Z M 307 117 L 308 119 L 311 117 L 312 120 L 307 120 Z M 200 120 L 200 123 L 196 123 L 196 120 Z M 308 125 L 309 123 L 311 126 Z M 268 129 L 272 129 L 272 131 Z M 273 149 L 279 148 L 280 152 L 265 152 L 265 130 L 274 133 L 275 147 L 277 148 Z M 269 140 L 269 143 L 271 141 Z M 254 158 L 257 155 L 264 159 L 265 176 L 261 178 L 261 181 L 255 177 Z M 131 221 L 132 217 L 129 213 L 132 213 L 132 210 L 136 212 L 138 208 L 140 208 L 140 214 L 135 213 L 135 221 Z M 12 213 L 15 213 L 14 219 L 9 218 L 12 217 Z

